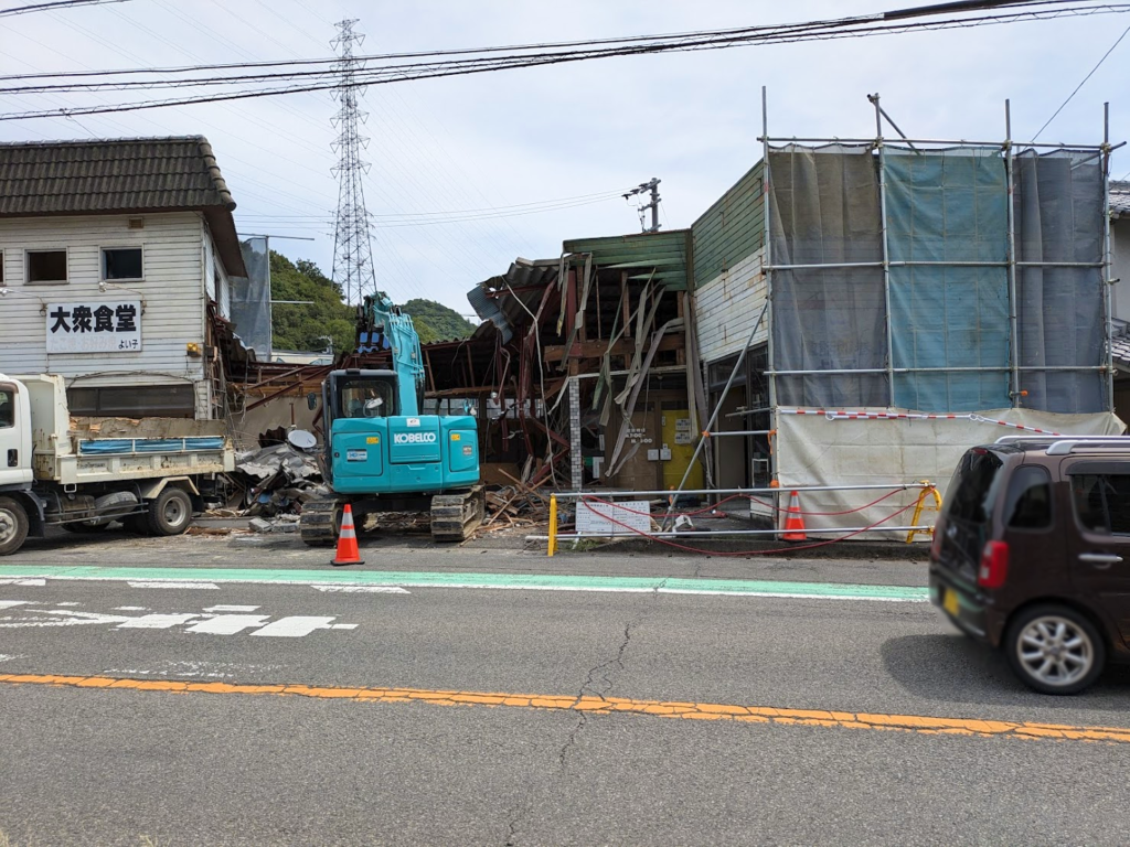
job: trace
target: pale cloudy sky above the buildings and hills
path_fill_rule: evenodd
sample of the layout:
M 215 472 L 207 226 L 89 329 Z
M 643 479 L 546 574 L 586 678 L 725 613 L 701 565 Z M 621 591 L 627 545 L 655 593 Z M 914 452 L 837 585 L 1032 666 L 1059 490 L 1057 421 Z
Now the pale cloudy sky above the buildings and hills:
M 23 0 L 0 0 L 0 9 Z M 0 17 L 0 73 L 328 58 L 334 21 L 357 18 L 364 53 L 681 33 L 801 21 L 914 0 L 128 0 Z M 471 314 L 466 292 L 516 256 L 567 238 L 640 232 L 620 197 L 658 177 L 664 229 L 688 227 L 759 158 L 771 136 L 875 134 L 867 95 L 912 138 L 1031 139 L 1130 28 L 1130 14 L 832 42 L 618 58 L 371 86 L 363 95 L 377 286 Z M 1041 141 L 1130 138 L 1130 37 Z M 9 95 L 5 113 L 146 93 Z M 337 104 L 328 93 L 80 117 L 0 121 L 0 140 L 202 134 L 243 234 L 333 264 Z M 1130 172 L 1114 154 L 1112 175 Z M 551 203 L 550 201 L 562 201 Z M 419 216 L 441 222 L 420 224 Z M 461 218 L 445 221 L 444 218 Z M 467 220 L 471 218 L 471 220 Z M 287 236 L 287 237 L 284 237 Z M 308 239 L 308 241 L 307 241 Z

